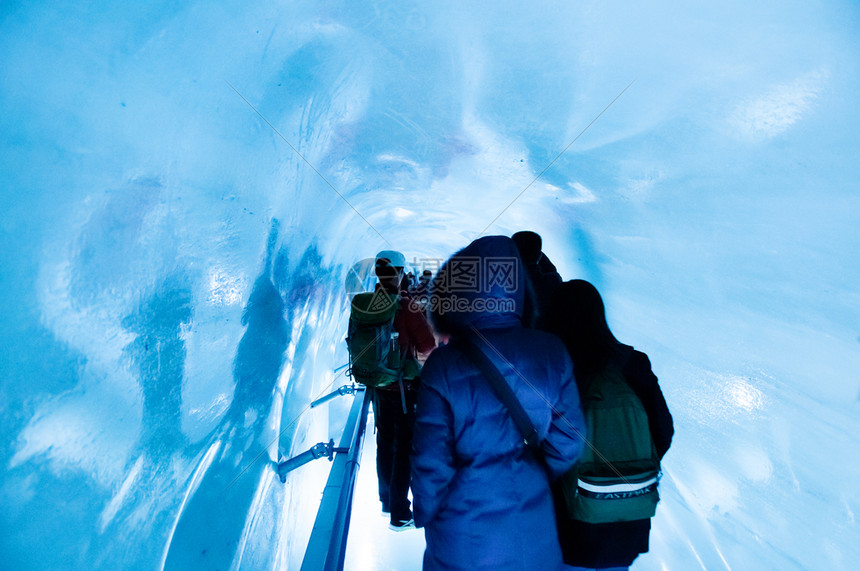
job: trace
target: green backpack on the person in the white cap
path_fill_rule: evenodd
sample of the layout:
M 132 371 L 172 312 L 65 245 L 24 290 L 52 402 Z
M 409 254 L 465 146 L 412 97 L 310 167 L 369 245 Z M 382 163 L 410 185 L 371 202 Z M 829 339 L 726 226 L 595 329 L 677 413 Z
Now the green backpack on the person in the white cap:
M 352 299 L 346 345 L 350 374 L 368 387 L 384 387 L 403 377 L 403 358 L 394 330 L 400 297 L 384 291 Z

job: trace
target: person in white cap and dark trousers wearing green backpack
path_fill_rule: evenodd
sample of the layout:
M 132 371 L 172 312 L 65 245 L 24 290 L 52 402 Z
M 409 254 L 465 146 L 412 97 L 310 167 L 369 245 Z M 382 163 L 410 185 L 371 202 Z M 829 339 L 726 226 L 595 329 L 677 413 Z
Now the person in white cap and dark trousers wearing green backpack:
M 391 337 L 396 338 L 396 342 L 386 338 L 384 343 L 390 342 L 397 346 L 399 353 L 394 357 L 398 364 L 394 365 L 393 369 L 380 373 L 378 378 L 367 379 L 362 376 L 359 365 L 368 359 L 374 359 L 373 356 L 377 354 L 375 347 L 370 350 L 350 347 L 350 360 L 356 380 L 372 387 L 374 391 L 379 500 L 383 513 L 389 514 L 389 527 L 395 531 L 415 529 L 409 502 L 409 455 L 412 450 L 412 426 L 415 422 L 415 402 L 420 381 L 419 359 L 423 361 L 426 354 L 436 346 L 436 339 L 424 313 L 413 307 L 406 292 L 401 290 L 404 266 L 405 257 L 402 253 L 395 250 L 379 252 L 375 260 L 375 273 L 379 279 L 375 294 L 360 294 L 369 296 L 368 307 L 375 308 L 368 313 L 366 319 L 375 317 L 374 312 L 387 312 L 386 315 L 391 316 Z M 380 294 L 383 298 L 376 297 Z M 396 307 L 391 307 L 388 312 L 388 304 L 394 304 Z M 351 321 L 354 320 L 355 313 L 354 301 Z M 384 366 L 379 370 L 384 370 Z

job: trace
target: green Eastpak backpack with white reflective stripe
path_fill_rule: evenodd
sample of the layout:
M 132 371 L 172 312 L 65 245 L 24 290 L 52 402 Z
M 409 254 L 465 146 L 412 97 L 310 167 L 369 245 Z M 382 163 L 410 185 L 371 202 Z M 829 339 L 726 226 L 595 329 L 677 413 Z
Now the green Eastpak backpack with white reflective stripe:
M 648 414 L 622 373 L 629 355 L 630 349 L 595 375 L 584 391 L 588 440 L 561 483 L 571 519 L 586 523 L 647 519 L 660 501 L 660 459 Z

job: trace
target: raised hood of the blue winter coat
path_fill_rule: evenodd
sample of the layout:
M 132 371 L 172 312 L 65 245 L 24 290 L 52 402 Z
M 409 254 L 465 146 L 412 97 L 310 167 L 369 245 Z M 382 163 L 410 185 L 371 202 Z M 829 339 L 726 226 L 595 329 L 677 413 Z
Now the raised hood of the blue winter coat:
M 441 333 L 520 324 L 526 280 L 513 240 L 485 236 L 451 256 L 433 280 L 431 319 Z

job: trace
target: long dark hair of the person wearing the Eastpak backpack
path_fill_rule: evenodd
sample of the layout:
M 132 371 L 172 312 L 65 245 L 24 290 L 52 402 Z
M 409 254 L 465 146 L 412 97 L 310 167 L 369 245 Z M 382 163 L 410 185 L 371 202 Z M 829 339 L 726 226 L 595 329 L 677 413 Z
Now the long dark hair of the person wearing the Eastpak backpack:
M 600 371 L 622 347 L 606 323 L 600 293 L 585 280 L 570 280 L 556 289 L 548 328 L 564 341 L 577 378 Z

